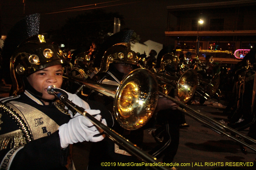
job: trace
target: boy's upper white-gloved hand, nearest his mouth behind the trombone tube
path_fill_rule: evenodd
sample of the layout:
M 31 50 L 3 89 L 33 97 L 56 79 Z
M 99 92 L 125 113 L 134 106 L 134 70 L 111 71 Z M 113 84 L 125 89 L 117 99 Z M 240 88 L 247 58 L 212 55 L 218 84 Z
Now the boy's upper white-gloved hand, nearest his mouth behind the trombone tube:
M 78 97 L 76 94 L 71 94 L 69 92 L 66 92 L 65 90 L 62 90 L 60 88 L 54 88 L 57 89 L 57 91 L 59 92 L 65 92 L 68 95 L 68 99 L 70 101 L 72 101 L 75 105 L 82 107 L 83 109 L 90 109 L 90 106 L 88 105 L 88 103 L 86 103 L 85 101 L 83 101 L 80 97 Z M 63 93 L 65 95 L 65 93 Z M 71 107 L 67 107 L 65 106 L 65 109 L 68 110 L 68 113 L 70 114 L 71 118 L 73 118 L 73 116 L 75 115 L 75 110 Z

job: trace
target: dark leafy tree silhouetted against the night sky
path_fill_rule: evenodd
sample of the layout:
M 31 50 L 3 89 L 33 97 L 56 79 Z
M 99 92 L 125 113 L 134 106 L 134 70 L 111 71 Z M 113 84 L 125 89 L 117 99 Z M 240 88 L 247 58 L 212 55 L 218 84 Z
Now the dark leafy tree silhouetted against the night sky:
M 101 44 L 114 29 L 114 17 L 121 20 L 123 16 L 118 13 L 107 13 L 103 9 L 92 10 L 69 18 L 66 24 L 53 35 L 52 41 L 65 44 L 69 49 L 84 47 L 90 49 L 92 42 Z

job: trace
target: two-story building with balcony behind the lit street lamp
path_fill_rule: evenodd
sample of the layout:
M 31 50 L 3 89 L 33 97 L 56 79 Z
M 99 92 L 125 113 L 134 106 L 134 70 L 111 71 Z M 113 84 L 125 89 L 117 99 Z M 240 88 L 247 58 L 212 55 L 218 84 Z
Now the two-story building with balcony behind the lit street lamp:
M 166 45 L 177 51 L 191 51 L 195 55 L 198 48 L 200 58 L 210 54 L 235 59 L 236 50 L 256 45 L 255 0 L 213 1 L 167 9 Z

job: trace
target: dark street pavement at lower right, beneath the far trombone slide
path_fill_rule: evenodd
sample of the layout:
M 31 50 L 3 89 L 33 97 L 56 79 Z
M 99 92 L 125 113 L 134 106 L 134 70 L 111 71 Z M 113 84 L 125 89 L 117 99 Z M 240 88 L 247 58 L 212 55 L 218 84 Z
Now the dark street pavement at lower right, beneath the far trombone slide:
M 211 107 L 211 105 L 193 105 L 191 107 L 216 121 L 222 120 L 225 122 L 224 124 L 227 124 L 227 116 L 222 113 L 223 108 L 215 108 Z M 240 149 L 240 145 L 233 139 L 219 135 L 188 116 L 186 116 L 186 121 L 190 127 L 180 129 L 180 143 L 174 162 L 179 164 L 190 163 L 190 166 L 179 166 L 179 169 L 256 169 L 255 166 L 227 166 L 230 165 L 229 163 L 232 165 L 233 162 L 254 163 L 254 159 L 256 158 L 255 151 L 247 148 L 247 154 L 244 154 Z M 248 129 L 241 131 L 241 133 L 246 135 Z M 195 166 L 195 163 L 197 163 L 197 166 Z M 215 163 L 217 166 L 207 166 L 214 165 L 212 163 Z

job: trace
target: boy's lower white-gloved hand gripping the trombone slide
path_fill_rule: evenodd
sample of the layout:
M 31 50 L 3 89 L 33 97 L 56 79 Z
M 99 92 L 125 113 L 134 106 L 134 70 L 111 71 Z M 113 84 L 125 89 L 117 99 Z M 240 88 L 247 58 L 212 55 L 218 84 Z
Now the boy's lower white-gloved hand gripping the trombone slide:
M 101 119 L 100 110 L 85 110 L 90 115 L 96 115 L 94 118 L 107 125 L 105 119 Z M 62 148 L 66 148 L 69 144 L 92 141 L 98 142 L 104 139 L 105 135 L 99 135 L 103 131 L 98 130 L 92 122 L 77 113 L 68 123 L 59 127 L 59 138 Z

